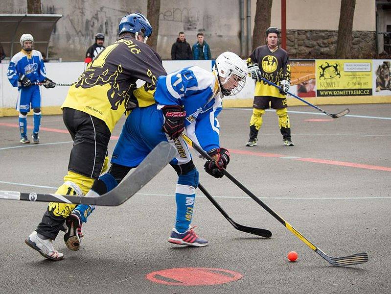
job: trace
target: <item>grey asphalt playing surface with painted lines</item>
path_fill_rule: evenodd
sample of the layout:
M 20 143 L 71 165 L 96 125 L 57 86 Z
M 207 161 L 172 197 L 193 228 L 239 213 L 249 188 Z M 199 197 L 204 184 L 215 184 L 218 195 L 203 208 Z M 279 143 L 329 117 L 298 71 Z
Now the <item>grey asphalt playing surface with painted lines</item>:
M 368 263 L 330 266 L 229 179 L 204 172 L 193 150 L 200 182 L 230 217 L 267 228 L 272 238 L 235 230 L 197 189 L 192 224 L 209 245 L 168 243 L 177 180 L 168 166 L 124 204 L 98 207 L 83 226 L 79 251 L 68 250 L 61 232 L 54 245 L 65 258 L 58 262 L 24 244 L 46 203 L 0 200 L 0 293 L 390 293 L 391 104 L 321 107 L 330 113 L 349 107 L 350 114 L 332 120 L 308 106 L 290 107 L 294 147 L 282 145 L 273 111 L 264 115 L 258 146 L 245 147 L 251 109 L 224 109 L 219 122 L 221 146 L 231 152 L 228 171 L 326 254 L 367 252 Z M 19 143 L 17 121 L 0 118 L 0 190 L 55 192 L 72 146 L 62 117 L 43 117 L 40 145 Z M 296 262 L 287 259 L 289 251 L 299 253 Z M 146 279 L 173 268 L 229 270 L 243 277 L 212 286 Z

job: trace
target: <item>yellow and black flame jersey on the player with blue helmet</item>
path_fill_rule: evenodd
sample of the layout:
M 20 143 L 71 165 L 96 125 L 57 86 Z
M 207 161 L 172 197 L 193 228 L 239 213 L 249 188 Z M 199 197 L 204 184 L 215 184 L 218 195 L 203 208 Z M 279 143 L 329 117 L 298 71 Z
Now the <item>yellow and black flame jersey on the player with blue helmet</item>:
M 160 75 L 167 75 L 161 57 L 147 44 L 123 37 L 102 50 L 71 86 L 63 107 L 77 109 L 103 120 L 110 131 L 125 112 L 125 104 L 136 89 L 138 104 L 155 103 L 153 93 Z M 136 91 L 135 91 L 136 92 Z M 140 93 L 143 92 L 143 93 Z

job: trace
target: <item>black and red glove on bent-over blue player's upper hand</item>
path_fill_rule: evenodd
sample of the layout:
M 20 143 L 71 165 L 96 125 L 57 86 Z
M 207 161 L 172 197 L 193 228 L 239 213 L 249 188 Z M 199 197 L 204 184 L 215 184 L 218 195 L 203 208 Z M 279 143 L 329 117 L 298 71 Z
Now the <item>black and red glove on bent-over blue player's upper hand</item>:
M 163 131 L 170 136 L 171 139 L 176 139 L 184 130 L 184 119 L 186 111 L 181 105 L 166 105 L 162 109 L 164 115 Z

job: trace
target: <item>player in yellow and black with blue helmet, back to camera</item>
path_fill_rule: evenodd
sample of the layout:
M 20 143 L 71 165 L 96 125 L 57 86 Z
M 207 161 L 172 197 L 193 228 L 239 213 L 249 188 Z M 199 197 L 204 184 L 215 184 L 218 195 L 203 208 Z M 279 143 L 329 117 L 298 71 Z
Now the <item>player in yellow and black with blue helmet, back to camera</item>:
M 115 124 L 127 110 L 155 103 L 153 93 L 160 75 L 166 75 L 159 54 L 146 40 L 152 34 L 148 20 L 139 13 L 124 16 L 119 23 L 119 39 L 99 52 L 71 86 L 62 110 L 72 137 L 68 174 L 55 194 L 84 196 L 107 169 L 107 146 Z M 145 81 L 136 89 L 136 81 Z M 81 232 L 72 226 L 69 214 L 74 204 L 49 203 L 42 221 L 25 243 L 44 257 L 60 260 L 63 253 L 52 241 L 60 230 L 68 231 L 64 241 L 77 250 Z M 84 210 L 91 213 L 93 205 Z M 77 244 L 77 246 L 75 246 Z

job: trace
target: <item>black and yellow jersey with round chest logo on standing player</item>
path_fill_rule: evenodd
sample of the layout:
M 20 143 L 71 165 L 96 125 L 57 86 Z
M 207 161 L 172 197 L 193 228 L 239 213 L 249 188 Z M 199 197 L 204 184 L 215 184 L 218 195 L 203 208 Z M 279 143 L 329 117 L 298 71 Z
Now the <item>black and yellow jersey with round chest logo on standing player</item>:
M 247 59 L 247 64 L 257 63 L 262 77 L 279 85 L 281 80 L 291 79 L 291 67 L 289 65 L 288 52 L 276 47 L 273 51 L 267 45 L 255 48 Z M 256 82 L 254 96 L 269 96 L 285 98 L 278 92 L 275 86 L 271 86 L 264 81 Z

